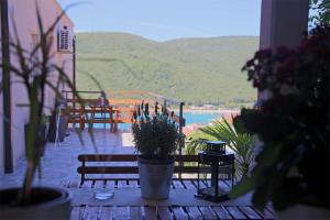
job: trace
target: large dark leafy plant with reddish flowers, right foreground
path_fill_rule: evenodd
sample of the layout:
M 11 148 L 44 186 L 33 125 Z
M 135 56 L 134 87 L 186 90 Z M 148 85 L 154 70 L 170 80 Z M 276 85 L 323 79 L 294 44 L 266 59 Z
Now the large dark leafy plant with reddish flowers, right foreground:
M 232 196 L 254 191 L 260 210 L 268 201 L 276 210 L 324 208 L 326 216 L 296 211 L 292 219 L 329 217 L 330 26 L 317 26 L 297 48 L 258 51 L 243 69 L 267 98 L 238 117 L 261 144 Z

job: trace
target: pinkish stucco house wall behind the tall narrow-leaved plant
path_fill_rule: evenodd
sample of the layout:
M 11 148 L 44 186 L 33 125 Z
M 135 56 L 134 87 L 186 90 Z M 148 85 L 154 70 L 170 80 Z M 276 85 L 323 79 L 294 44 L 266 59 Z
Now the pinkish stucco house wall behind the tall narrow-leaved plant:
M 9 20 L 10 20 L 10 32 L 11 36 L 13 36 L 13 25 L 16 26 L 19 38 L 21 44 L 28 51 L 31 50 L 32 35 L 38 34 L 37 19 L 36 19 L 36 6 L 40 8 L 40 12 L 43 19 L 43 25 L 47 29 L 62 13 L 61 8 L 54 0 L 10 0 L 9 1 Z M 52 62 L 57 65 L 64 65 L 65 72 L 72 78 L 73 75 L 73 59 L 72 54 L 59 54 L 57 52 L 57 31 L 61 26 L 66 25 L 68 30 L 73 31 L 74 24 L 67 18 L 63 16 L 63 19 L 58 22 L 56 29 L 53 32 L 53 46 L 52 51 L 55 53 Z M 16 64 L 18 59 L 14 55 L 11 55 L 12 64 Z M 15 78 L 12 78 L 12 81 Z M 12 92 L 12 144 L 13 144 L 13 162 L 14 166 L 16 163 L 24 156 L 25 154 L 25 143 L 24 143 L 24 124 L 28 123 L 29 120 L 29 109 L 18 107 L 21 103 L 28 103 L 26 99 L 26 90 L 24 87 L 18 82 L 12 84 L 11 88 Z M 53 92 L 51 90 L 47 91 L 46 105 L 53 102 Z M 2 99 L 1 99 L 2 100 Z M 1 103 L 2 110 L 2 103 Z M 2 120 L 1 120 L 2 121 Z M 2 124 L 1 124 L 2 125 Z M 2 142 L 2 135 L 0 127 L 0 143 Z M 2 147 L 2 144 L 0 144 Z M 0 151 L 1 151 L 0 147 Z M 2 155 L 1 155 L 2 154 Z M 0 153 L 0 172 L 3 170 L 3 151 Z

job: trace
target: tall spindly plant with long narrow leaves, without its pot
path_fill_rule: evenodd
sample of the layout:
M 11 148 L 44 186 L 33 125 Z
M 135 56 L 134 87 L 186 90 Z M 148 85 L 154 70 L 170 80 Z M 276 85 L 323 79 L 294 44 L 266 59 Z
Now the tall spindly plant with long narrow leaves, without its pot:
M 19 81 L 24 86 L 25 91 L 21 92 L 26 92 L 29 102 L 22 107 L 29 108 L 30 112 L 25 140 L 28 166 L 23 186 L 19 194 L 19 198 L 16 198 L 16 206 L 29 206 L 32 202 L 32 182 L 36 170 L 40 170 L 38 176 L 41 177 L 41 151 L 43 151 L 47 139 L 40 134 L 40 128 L 45 122 L 43 111 L 45 108 L 44 101 L 47 89 L 51 89 L 55 94 L 56 98 L 54 99 L 54 106 L 55 101 L 64 100 L 64 97 L 61 94 L 63 85 L 68 89 L 72 89 L 74 96 L 77 97 L 78 102 L 82 103 L 64 69 L 52 62 L 52 46 L 54 42 L 51 35 L 64 14 L 65 12 L 58 15 L 54 23 L 45 30 L 37 8 L 36 15 L 40 41 L 31 51 L 25 50 L 22 45 L 14 23 L 13 40 L 11 42 L 4 42 L 6 44 L 9 44 L 11 55 L 18 59 L 18 64 L 1 63 L 0 67 L 7 69 L 10 75 L 16 79 L 15 81 Z M 1 81 L 1 85 L 2 84 L 3 81 Z M 51 110 L 55 113 L 55 108 Z

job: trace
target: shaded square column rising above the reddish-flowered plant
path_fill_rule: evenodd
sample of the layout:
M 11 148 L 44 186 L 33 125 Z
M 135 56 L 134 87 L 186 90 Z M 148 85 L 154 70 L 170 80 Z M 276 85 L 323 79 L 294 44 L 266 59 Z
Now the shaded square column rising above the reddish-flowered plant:
M 309 0 L 262 0 L 260 48 L 295 47 L 308 29 Z

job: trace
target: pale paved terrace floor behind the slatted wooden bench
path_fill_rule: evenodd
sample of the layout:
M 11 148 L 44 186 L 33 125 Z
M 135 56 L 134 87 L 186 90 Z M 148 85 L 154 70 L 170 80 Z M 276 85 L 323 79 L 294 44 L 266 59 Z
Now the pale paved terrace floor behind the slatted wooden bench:
M 63 186 L 68 180 L 78 179 L 77 167 L 80 163 L 77 156 L 82 153 L 132 154 L 134 147 L 132 133 L 110 133 L 109 130 L 94 130 L 97 148 L 94 147 L 87 131 L 82 132 L 84 145 L 76 132 L 70 131 L 65 141 L 55 145 L 47 143 L 42 157 L 42 179 L 34 179 L 35 185 Z M 13 174 L 0 177 L 0 188 L 21 186 L 26 167 L 25 160 L 19 162 Z

